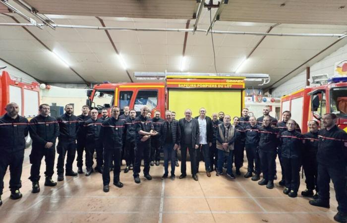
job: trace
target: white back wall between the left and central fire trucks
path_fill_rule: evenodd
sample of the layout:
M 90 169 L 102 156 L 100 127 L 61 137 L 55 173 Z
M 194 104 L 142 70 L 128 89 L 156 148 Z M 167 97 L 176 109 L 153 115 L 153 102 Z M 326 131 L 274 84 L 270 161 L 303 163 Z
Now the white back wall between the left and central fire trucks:
M 86 104 L 87 89 L 77 88 L 60 88 L 51 86 L 50 90 L 40 90 L 41 104 L 52 105 L 57 103 L 57 106 L 65 106 L 66 104 L 74 104 L 74 114 L 81 114 L 82 106 Z

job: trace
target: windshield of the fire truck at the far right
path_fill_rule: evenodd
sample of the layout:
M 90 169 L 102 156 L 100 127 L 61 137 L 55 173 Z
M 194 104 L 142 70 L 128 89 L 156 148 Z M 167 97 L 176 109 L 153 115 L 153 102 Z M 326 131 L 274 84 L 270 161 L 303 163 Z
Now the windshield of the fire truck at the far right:
M 331 111 L 339 117 L 347 117 L 347 87 L 330 90 Z

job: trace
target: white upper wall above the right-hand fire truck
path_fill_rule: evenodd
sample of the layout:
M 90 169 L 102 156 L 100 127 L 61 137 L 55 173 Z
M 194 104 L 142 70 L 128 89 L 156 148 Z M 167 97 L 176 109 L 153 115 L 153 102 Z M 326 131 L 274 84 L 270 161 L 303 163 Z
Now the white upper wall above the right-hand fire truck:
M 310 67 L 310 75 L 328 74 L 329 76 L 332 76 L 334 75 L 335 63 L 344 59 L 347 59 L 347 45 L 313 64 Z M 288 95 L 290 92 L 294 92 L 305 87 L 305 83 L 306 69 L 295 77 L 291 78 L 286 83 L 273 89 L 272 97 L 282 97 L 283 95 Z

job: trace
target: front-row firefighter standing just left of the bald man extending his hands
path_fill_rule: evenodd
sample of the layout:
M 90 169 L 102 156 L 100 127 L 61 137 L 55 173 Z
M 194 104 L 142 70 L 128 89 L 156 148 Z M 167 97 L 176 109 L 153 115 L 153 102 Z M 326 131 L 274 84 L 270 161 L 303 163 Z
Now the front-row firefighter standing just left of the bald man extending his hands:
M 100 140 L 104 147 L 104 169 L 103 183 L 104 192 L 109 192 L 110 186 L 110 165 L 114 161 L 114 179 L 113 183 L 116 187 L 123 187 L 123 183 L 119 180 L 121 149 L 125 137 L 125 122 L 118 118 L 120 109 L 115 106 L 111 110 L 112 117 L 103 122 L 100 129 Z

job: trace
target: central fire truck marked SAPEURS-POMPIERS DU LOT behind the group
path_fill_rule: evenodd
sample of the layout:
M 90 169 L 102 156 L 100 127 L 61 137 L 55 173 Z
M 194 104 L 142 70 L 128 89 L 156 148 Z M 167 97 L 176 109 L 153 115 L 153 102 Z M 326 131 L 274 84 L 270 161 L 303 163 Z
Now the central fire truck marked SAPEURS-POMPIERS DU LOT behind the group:
M 207 115 L 224 111 L 239 116 L 244 103 L 244 77 L 167 76 L 166 82 L 157 83 L 106 83 L 97 84 L 87 91 L 87 105 L 97 108 L 118 106 L 121 113 L 125 106 L 140 112 L 144 105 L 152 112 L 176 112 L 176 119 L 184 117 L 186 109 L 194 116 L 204 107 Z

